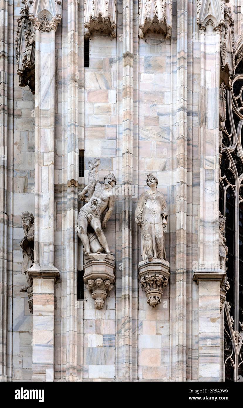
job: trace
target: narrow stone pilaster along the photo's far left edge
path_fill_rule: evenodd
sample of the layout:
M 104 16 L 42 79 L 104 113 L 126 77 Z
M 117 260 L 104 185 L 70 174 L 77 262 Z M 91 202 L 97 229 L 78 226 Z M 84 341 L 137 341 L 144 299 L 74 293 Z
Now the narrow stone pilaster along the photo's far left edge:
M 0 2 L 0 381 L 7 381 L 8 2 Z

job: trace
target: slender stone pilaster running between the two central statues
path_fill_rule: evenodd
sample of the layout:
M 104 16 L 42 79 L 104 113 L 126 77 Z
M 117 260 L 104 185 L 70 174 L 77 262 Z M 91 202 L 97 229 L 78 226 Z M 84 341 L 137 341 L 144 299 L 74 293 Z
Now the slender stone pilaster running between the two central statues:
M 132 379 L 133 1 L 122 2 L 121 379 Z

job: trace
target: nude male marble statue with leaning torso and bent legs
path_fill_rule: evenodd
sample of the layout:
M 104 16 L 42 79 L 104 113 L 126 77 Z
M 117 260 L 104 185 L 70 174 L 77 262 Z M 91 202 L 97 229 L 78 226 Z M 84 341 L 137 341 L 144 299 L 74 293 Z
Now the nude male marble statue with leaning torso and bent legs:
M 88 225 L 90 225 L 95 231 L 99 243 L 104 248 L 104 251 L 107 254 L 112 255 L 102 228 L 106 228 L 106 222 L 109 220 L 115 205 L 115 195 L 111 194 L 111 190 L 115 186 L 116 182 L 117 180 L 113 173 L 109 173 L 106 177 L 104 177 L 104 184 L 100 184 L 100 182 L 96 180 L 93 195 L 90 197 L 87 204 L 80 209 L 77 235 L 80 237 L 84 246 L 84 255 L 89 255 L 91 253 L 87 235 Z M 104 211 L 106 211 L 106 213 L 101 222 L 101 215 L 104 213 Z

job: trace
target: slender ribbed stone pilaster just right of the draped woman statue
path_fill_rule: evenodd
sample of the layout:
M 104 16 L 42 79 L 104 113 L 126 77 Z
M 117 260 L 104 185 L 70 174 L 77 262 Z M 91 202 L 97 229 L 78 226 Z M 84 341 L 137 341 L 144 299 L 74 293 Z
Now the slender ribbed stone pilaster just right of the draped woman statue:
M 186 381 L 187 0 L 177 2 L 176 380 Z

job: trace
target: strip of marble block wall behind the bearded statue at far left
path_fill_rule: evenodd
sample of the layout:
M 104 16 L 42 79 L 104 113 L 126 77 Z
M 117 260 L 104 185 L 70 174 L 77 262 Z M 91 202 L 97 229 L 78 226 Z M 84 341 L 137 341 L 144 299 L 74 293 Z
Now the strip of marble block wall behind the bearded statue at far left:
M 15 64 L 16 21 L 21 4 L 9 4 L 9 118 L 8 118 L 8 196 L 7 271 L 8 271 L 8 333 L 7 375 L 13 381 L 32 380 L 32 315 L 28 296 L 20 289 L 26 286 L 22 275 L 24 236 L 22 212 L 34 214 L 35 111 L 29 89 L 18 86 Z M 11 25 L 12 24 L 12 25 Z

